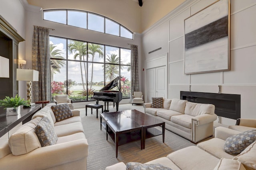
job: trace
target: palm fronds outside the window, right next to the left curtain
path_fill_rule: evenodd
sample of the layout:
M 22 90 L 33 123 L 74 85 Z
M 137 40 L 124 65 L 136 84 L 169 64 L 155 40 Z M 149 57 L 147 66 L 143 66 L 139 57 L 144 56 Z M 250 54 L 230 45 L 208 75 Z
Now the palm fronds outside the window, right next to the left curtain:
M 54 59 L 64 59 L 64 57 L 61 56 L 63 54 L 60 49 L 54 49 L 57 47 L 54 44 L 50 44 L 50 57 Z M 50 60 L 51 64 L 51 82 L 53 81 L 53 74 L 56 74 L 57 72 L 60 72 L 61 66 L 64 66 L 66 63 L 62 60 Z

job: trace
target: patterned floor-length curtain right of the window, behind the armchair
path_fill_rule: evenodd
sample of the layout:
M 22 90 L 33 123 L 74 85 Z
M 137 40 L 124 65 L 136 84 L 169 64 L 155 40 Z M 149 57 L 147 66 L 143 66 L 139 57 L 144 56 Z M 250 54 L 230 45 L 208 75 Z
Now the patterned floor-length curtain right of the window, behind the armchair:
M 132 102 L 132 94 L 133 92 L 140 91 L 139 84 L 139 72 L 138 72 L 138 45 L 131 45 L 131 102 Z

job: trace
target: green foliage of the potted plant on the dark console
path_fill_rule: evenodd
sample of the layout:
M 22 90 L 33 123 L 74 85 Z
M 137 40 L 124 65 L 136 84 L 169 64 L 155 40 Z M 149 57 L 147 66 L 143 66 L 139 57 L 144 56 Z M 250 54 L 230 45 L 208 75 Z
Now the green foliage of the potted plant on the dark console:
M 29 101 L 21 99 L 18 94 L 16 94 L 15 98 L 6 96 L 5 99 L 0 100 L 0 107 L 4 107 L 4 109 L 8 107 L 13 107 L 16 109 L 18 106 L 30 106 Z

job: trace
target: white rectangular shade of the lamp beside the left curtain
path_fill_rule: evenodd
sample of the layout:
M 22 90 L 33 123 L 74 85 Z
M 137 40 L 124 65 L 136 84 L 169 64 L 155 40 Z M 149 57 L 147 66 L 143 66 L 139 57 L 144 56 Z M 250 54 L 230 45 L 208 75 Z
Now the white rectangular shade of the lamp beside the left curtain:
M 38 81 L 39 72 L 36 70 L 17 68 L 17 81 Z

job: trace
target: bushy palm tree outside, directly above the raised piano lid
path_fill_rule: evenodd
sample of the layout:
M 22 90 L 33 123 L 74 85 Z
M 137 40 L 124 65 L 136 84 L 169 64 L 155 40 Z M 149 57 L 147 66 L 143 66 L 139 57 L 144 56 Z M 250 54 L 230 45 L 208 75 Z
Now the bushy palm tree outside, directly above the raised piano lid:
M 111 54 L 111 56 L 107 55 L 107 57 L 108 58 L 106 58 L 106 63 L 110 63 L 110 64 L 106 64 L 105 78 L 106 78 L 106 80 L 110 80 L 111 81 L 119 73 L 118 65 L 114 65 L 114 64 L 119 64 L 119 57 L 117 57 L 116 54 Z M 104 66 L 102 66 L 102 67 L 104 67 Z

